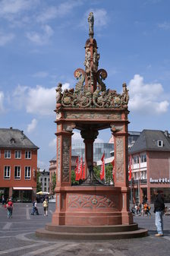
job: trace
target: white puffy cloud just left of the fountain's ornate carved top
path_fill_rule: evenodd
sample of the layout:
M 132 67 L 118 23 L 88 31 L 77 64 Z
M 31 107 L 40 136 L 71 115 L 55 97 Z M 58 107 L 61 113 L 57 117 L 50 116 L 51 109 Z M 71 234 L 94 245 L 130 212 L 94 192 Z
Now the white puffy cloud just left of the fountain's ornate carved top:
M 69 88 L 70 84 L 65 83 L 62 89 Z M 18 85 L 13 93 L 14 106 L 21 109 L 23 106 L 28 113 L 35 115 L 53 115 L 55 109 L 55 87 L 46 88 L 37 85 L 27 87 Z

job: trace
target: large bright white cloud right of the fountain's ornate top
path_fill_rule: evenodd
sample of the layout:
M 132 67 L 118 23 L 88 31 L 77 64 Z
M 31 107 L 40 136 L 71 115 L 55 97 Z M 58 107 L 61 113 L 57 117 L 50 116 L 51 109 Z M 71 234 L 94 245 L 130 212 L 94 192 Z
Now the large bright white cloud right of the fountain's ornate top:
M 129 83 L 129 109 L 147 114 L 161 114 L 168 111 L 168 101 L 162 100 L 163 87 L 159 83 L 144 84 L 143 77 L 135 74 Z

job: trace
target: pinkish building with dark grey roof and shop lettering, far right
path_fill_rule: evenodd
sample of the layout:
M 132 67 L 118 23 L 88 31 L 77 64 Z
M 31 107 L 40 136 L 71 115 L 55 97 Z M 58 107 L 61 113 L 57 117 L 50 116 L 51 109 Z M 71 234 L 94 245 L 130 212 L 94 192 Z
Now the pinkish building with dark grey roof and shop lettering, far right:
M 159 188 L 170 201 L 170 137 L 168 131 L 143 130 L 129 150 L 132 179 L 131 199 L 153 202 L 153 189 Z

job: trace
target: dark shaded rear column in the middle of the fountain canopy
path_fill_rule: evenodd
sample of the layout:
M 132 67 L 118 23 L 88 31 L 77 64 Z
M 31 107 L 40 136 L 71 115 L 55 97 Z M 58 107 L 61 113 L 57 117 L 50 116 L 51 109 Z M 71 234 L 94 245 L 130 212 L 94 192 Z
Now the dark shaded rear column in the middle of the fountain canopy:
M 88 129 L 81 131 L 80 134 L 85 144 L 85 169 L 87 177 L 89 175 L 90 166 L 93 166 L 93 143 L 99 132 Z

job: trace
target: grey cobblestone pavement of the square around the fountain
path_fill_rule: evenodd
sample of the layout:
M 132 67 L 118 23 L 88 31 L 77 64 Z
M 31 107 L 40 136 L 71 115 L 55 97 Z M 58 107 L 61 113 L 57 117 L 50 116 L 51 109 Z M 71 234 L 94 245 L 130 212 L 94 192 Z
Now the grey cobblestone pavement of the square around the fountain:
M 39 216 L 30 215 L 32 204 L 14 204 L 13 218 L 0 205 L 0 256 L 168 256 L 170 254 L 170 216 L 164 216 L 165 235 L 155 237 L 155 216 L 135 216 L 140 227 L 149 230 L 142 239 L 112 241 L 70 242 L 39 239 L 35 230 L 44 227 L 52 219 L 55 204 L 49 204 L 49 216 L 43 216 L 42 204 L 38 204 Z

